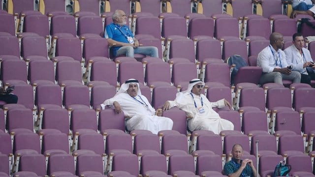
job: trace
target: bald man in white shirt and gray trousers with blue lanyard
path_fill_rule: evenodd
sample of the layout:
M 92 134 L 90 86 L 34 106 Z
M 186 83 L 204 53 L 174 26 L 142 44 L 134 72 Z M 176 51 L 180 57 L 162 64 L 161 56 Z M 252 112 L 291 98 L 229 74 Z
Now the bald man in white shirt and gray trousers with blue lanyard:
M 270 34 L 270 45 L 259 52 L 257 56 L 257 66 L 262 67 L 260 84 L 278 83 L 283 84 L 284 80 L 290 80 L 293 83 L 301 82 L 301 74 L 297 71 L 291 71 L 286 63 L 284 51 L 284 36 L 278 32 Z

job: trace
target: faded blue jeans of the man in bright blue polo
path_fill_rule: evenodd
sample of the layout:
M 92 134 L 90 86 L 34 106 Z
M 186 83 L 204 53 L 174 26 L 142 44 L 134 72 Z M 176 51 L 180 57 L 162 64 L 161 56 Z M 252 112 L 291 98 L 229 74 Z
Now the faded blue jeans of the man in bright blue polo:
M 132 57 L 134 54 L 142 54 L 145 56 L 158 58 L 158 48 L 153 46 L 137 47 L 123 46 L 116 51 L 116 56 L 126 55 L 126 57 Z

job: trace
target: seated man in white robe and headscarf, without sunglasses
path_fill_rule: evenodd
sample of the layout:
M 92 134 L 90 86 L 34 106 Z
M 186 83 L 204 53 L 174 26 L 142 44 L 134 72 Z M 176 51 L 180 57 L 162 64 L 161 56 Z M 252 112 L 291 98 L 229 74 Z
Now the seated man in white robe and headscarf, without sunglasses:
M 113 98 L 101 104 L 102 109 L 106 105 L 113 105 L 117 114 L 124 112 L 125 117 L 128 118 L 126 128 L 129 131 L 143 129 L 158 134 L 160 130 L 171 130 L 173 127 L 173 121 L 161 117 L 162 110 L 156 111 L 148 99 L 141 94 L 139 83 L 135 79 L 127 80 Z

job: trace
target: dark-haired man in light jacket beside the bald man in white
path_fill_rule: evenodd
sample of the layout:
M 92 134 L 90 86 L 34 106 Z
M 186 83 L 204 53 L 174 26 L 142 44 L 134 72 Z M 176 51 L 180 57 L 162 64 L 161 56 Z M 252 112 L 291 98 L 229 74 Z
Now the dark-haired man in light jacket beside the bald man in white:
M 301 73 L 301 83 L 311 84 L 311 80 L 315 80 L 315 73 L 308 73 L 307 66 L 315 68 L 311 53 L 304 48 L 304 37 L 300 33 L 293 34 L 293 45 L 284 50 L 286 62 L 292 65 L 292 71 Z

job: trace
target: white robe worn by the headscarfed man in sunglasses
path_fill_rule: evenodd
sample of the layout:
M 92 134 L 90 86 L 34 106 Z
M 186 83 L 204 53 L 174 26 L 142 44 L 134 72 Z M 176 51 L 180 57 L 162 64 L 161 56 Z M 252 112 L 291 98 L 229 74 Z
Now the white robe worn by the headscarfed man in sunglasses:
M 203 108 L 204 113 L 199 113 L 197 108 L 201 107 L 200 96 L 193 94 L 193 98 L 190 93 L 181 95 L 180 98 L 176 98 L 174 101 L 168 101 L 170 107 L 178 107 L 179 109 L 186 112 L 186 115 L 192 117 L 188 122 L 188 127 L 190 131 L 193 130 L 211 130 L 215 134 L 219 134 L 222 130 L 233 130 L 234 125 L 232 122 L 220 118 L 220 115 L 215 112 L 212 107 L 222 108 L 224 107 L 224 99 L 221 99 L 217 102 L 210 102 L 207 97 L 203 94 Z M 195 108 L 193 99 L 196 102 L 197 108 Z

